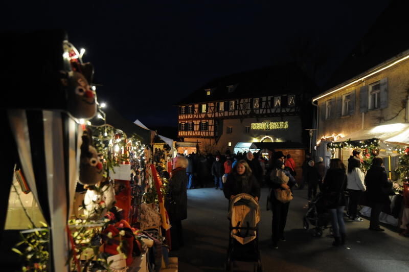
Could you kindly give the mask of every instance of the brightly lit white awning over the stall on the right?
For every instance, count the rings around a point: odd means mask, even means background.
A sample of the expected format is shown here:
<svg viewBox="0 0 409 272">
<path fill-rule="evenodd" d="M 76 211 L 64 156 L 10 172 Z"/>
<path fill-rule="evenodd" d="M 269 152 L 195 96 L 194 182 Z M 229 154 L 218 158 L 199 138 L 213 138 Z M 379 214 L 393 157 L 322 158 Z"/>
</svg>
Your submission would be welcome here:
<svg viewBox="0 0 409 272">
<path fill-rule="evenodd" d="M 389 143 L 407 145 L 409 144 L 409 123 L 395 123 L 360 129 L 334 142 L 340 143 L 348 140 L 360 141 L 374 138 Z"/>
</svg>

